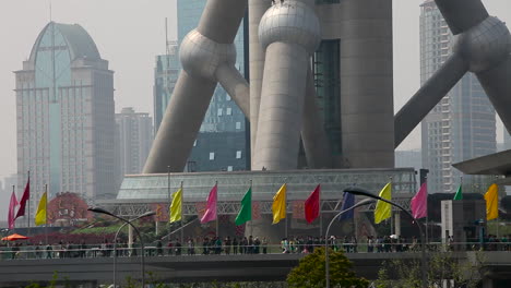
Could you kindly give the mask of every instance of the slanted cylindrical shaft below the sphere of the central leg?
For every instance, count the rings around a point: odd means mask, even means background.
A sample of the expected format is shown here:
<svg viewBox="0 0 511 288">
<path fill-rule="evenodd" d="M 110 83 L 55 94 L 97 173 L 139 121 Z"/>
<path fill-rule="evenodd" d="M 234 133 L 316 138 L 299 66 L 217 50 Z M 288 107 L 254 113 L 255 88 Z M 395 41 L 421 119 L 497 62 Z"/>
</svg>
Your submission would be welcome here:
<svg viewBox="0 0 511 288">
<path fill-rule="evenodd" d="M 297 168 L 307 56 L 304 48 L 287 43 L 266 49 L 253 170 Z"/>
</svg>

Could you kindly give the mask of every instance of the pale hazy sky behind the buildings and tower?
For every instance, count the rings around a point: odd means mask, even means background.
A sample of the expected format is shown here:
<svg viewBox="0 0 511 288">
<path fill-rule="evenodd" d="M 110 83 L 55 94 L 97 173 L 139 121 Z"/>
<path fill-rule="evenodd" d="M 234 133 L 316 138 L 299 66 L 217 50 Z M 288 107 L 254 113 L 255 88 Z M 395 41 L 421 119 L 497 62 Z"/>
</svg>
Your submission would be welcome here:
<svg viewBox="0 0 511 288">
<path fill-rule="evenodd" d="M 189 0 L 192 1 L 192 0 Z M 16 171 L 14 74 L 50 19 L 49 0 L 1 0 L 0 179 Z M 419 87 L 419 4 L 394 0 L 394 103 L 396 111 Z M 511 23 L 510 0 L 484 0 L 488 11 Z M 152 113 L 154 58 L 165 52 L 165 17 L 176 38 L 176 0 L 52 0 L 52 20 L 82 25 L 115 73 L 116 110 Z M 501 139 L 501 130 L 499 130 Z M 419 148 L 415 131 L 399 147 Z"/>
</svg>

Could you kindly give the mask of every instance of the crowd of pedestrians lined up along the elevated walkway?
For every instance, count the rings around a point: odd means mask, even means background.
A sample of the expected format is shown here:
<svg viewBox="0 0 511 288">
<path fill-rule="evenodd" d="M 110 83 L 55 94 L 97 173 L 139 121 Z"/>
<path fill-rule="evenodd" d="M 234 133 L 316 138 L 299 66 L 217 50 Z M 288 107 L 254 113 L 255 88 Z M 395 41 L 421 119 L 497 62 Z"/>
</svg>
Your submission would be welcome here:
<svg viewBox="0 0 511 288">
<path fill-rule="evenodd" d="M 280 243 L 270 243 L 263 237 L 200 237 L 187 238 L 182 241 L 174 238 L 163 243 L 162 240 L 145 245 L 147 255 L 212 255 L 212 254 L 266 254 L 266 253 L 312 253 L 317 247 L 324 247 L 325 239 L 320 237 L 289 237 L 283 238 Z M 420 250 L 420 241 L 417 237 L 403 238 L 400 236 L 368 236 L 360 241 L 355 237 L 328 238 L 328 244 L 334 251 L 346 253 L 391 253 L 391 252 L 417 252 Z M 497 237 L 488 235 L 482 247 L 480 239 L 468 239 L 466 243 L 454 241 L 448 237 L 445 241 L 429 242 L 427 249 L 430 251 L 456 251 L 456 250 L 486 250 L 486 251 L 511 251 L 509 236 Z M 114 243 L 105 240 L 100 244 L 85 244 L 63 242 L 57 244 L 38 243 L 1 243 L 1 259 L 67 259 L 67 257 L 110 257 L 114 255 Z M 135 241 L 131 247 L 119 240 L 116 244 L 117 256 L 136 256 L 140 253 L 140 244 Z"/>
</svg>

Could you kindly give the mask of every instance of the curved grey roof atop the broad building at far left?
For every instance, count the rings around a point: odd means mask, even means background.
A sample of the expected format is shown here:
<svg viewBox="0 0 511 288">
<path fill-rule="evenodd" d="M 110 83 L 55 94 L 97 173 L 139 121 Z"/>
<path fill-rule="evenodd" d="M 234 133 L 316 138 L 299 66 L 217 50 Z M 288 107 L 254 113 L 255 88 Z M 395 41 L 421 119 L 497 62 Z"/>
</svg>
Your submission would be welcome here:
<svg viewBox="0 0 511 288">
<path fill-rule="evenodd" d="M 62 34 L 63 38 L 66 39 L 66 43 L 68 44 L 69 50 L 71 52 L 71 60 L 83 57 L 90 60 L 102 59 L 96 44 L 92 39 L 91 35 L 88 35 L 88 33 L 82 26 L 79 24 L 61 24 L 50 22 L 43 28 L 43 31 L 39 33 L 39 36 L 37 36 L 37 40 L 32 48 L 29 60 L 35 60 L 37 47 L 39 47 L 44 35 L 51 27 L 51 25 L 55 25 L 55 28 L 60 32 L 60 34 Z"/>
</svg>

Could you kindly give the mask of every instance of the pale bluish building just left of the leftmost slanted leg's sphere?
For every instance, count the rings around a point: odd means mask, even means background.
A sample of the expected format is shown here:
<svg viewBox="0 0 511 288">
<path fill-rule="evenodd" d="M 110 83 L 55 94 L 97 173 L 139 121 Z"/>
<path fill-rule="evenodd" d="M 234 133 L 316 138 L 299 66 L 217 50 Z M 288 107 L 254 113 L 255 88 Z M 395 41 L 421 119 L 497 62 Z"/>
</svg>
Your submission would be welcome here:
<svg viewBox="0 0 511 288">
<path fill-rule="evenodd" d="M 167 44 L 167 53 L 156 56 L 156 68 L 154 69 L 154 135 L 158 131 L 174 86 L 176 86 L 179 69 L 178 46 L 177 44 Z"/>
</svg>

